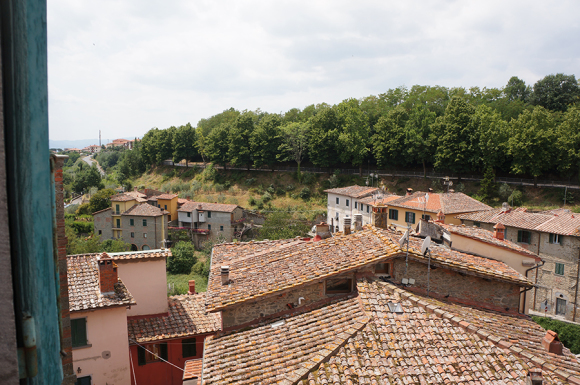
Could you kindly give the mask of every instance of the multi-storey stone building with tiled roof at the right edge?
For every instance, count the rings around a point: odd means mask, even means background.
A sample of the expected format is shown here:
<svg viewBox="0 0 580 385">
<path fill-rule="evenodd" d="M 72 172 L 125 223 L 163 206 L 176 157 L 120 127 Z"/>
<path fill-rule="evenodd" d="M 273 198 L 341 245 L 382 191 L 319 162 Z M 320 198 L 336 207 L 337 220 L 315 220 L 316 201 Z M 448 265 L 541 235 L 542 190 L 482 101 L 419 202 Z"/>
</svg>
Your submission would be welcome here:
<svg viewBox="0 0 580 385">
<path fill-rule="evenodd" d="M 580 216 L 566 211 L 529 212 L 502 208 L 458 217 L 466 226 L 493 231 L 502 224 L 505 239 L 537 254 L 544 264 L 534 271 L 537 287 L 529 296 L 530 308 L 556 318 L 576 321 L 580 253 Z"/>
</svg>

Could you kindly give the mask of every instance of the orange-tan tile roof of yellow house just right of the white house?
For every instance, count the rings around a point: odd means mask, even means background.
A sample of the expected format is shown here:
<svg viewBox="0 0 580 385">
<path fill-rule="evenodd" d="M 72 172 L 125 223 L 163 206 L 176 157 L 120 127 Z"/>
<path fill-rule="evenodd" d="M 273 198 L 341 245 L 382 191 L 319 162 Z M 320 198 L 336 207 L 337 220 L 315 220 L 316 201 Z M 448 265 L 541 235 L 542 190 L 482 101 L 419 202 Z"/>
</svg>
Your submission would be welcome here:
<svg viewBox="0 0 580 385">
<path fill-rule="evenodd" d="M 429 199 L 425 202 L 425 193 L 417 191 L 409 196 L 390 201 L 389 206 L 425 210 L 431 213 L 442 211 L 445 215 L 491 209 L 488 205 L 460 192 L 428 193 L 427 195 Z"/>
</svg>

